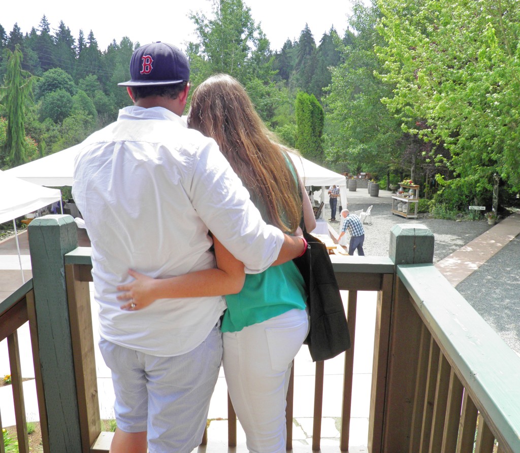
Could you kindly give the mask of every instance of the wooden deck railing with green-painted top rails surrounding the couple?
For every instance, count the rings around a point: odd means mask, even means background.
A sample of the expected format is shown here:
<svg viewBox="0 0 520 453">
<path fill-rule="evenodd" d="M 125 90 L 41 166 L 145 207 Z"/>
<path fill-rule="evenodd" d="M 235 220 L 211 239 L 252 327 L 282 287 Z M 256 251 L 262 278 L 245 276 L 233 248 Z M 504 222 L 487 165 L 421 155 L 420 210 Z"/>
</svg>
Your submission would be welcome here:
<svg viewBox="0 0 520 453">
<path fill-rule="evenodd" d="M 29 228 L 34 298 L 28 282 L 17 298 L 0 304 L 0 331 L 14 335 L 26 317 L 37 328 L 33 352 L 40 352 L 35 371 L 45 453 L 108 452 L 111 434 L 100 427 L 94 362 L 90 249 L 77 248 L 76 227 L 68 216 L 39 218 Z M 349 444 L 358 291 L 377 291 L 368 450 L 520 452 L 520 358 L 432 265 L 433 235 L 427 229 L 396 225 L 390 249 L 389 258 L 332 257 L 340 287 L 348 290 L 352 336 L 344 355 L 339 450 L 347 451 Z M 19 321 L 13 321 L 16 316 Z M 12 328 L 4 329 L 4 322 Z M 16 342 L 16 335 L 12 338 Z M 11 361 L 16 363 L 16 353 Z M 318 450 L 323 363 L 316 364 L 315 379 L 311 448 Z M 287 418 L 291 449 L 291 388 Z M 18 424 L 20 438 L 24 422 L 17 416 Z M 204 442 L 211 451 L 211 438 Z M 228 446 L 236 443 L 230 407 Z"/>
</svg>

